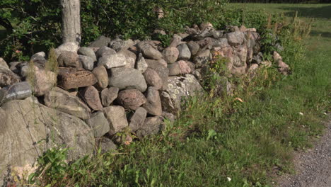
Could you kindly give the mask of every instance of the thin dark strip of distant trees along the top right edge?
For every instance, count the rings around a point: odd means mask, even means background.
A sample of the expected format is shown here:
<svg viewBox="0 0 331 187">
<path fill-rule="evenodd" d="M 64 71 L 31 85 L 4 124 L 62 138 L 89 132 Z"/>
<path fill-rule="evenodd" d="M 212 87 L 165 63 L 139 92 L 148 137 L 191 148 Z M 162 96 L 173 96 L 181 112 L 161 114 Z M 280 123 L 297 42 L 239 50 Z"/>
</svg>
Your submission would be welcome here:
<svg viewBox="0 0 331 187">
<path fill-rule="evenodd" d="M 331 3 L 331 0 L 230 0 L 231 3 L 263 3 L 263 4 L 316 4 L 316 3 Z"/>
</svg>

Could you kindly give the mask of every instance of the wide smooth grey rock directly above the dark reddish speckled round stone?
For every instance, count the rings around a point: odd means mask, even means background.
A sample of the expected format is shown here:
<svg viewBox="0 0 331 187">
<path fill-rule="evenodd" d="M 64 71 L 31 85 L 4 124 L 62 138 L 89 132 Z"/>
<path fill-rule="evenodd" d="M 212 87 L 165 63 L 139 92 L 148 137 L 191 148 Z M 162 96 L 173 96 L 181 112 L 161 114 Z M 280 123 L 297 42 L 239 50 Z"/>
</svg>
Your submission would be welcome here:
<svg viewBox="0 0 331 187">
<path fill-rule="evenodd" d="M 109 85 L 122 89 L 137 89 L 146 91 L 147 84 L 144 76 L 137 69 L 118 67 L 110 69 Z"/>
</svg>

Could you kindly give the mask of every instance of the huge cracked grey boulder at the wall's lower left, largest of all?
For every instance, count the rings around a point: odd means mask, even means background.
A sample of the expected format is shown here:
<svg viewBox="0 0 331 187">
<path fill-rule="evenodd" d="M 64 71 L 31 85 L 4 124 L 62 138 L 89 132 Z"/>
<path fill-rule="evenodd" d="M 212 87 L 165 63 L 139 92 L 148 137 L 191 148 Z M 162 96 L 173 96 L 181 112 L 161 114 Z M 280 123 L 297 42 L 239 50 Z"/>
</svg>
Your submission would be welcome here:
<svg viewBox="0 0 331 187">
<path fill-rule="evenodd" d="M 93 153 L 93 131 L 75 116 L 32 98 L 9 101 L 1 108 L 0 186 L 8 170 L 18 175 L 33 172 L 37 158 L 52 147 L 69 148 L 69 160 Z"/>
</svg>

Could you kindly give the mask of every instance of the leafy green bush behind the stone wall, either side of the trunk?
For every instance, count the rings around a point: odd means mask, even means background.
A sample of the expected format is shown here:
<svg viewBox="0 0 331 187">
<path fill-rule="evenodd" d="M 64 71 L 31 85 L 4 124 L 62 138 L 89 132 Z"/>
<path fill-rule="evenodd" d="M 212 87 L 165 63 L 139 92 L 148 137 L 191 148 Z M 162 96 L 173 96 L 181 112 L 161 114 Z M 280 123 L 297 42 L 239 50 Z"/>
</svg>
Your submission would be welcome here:
<svg viewBox="0 0 331 187">
<path fill-rule="evenodd" d="M 155 28 L 173 33 L 193 23 L 223 20 L 220 12 L 226 2 L 81 0 L 82 45 L 100 35 L 144 39 Z M 163 8 L 165 18 L 157 18 L 156 8 Z M 4 0 L 0 2 L 0 18 L 9 24 L 6 38 L 0 40 L 0 56 L 6 60 L 28 60 L 33 52 L 61 42 L 61 7 L 57 0 Z"/>
</svg>

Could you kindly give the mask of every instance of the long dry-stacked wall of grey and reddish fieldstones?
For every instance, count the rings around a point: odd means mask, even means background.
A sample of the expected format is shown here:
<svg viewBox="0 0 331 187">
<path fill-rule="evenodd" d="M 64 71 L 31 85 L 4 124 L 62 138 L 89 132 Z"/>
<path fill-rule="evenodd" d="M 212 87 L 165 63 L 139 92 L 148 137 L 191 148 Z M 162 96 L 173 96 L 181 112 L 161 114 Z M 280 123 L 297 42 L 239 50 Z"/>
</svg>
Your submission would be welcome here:
<svg viewBox="0 0 331 187">
<path fill-rule="evenodd" d="M 64 43 L 55 53 L 57 74 L 47 70 L 45 52 L 30 62 L 0 59 L 1 173 L 8 165 L 33 168 L 50 147 L 69 146 L 75 159 L 92 153 L 95 143 L 105 152 L 115 149 L 112 140 L 131 142 L 131 133 L 160 132 L 163 120 L 180 112 L 182 97 L 204 92 L 203 69 L 215 57 L 227 58 L 236 75 L 271 63 L 262 60 L 255 28 L 215 30 L 210 23 L 174 35 L 165 48 L 155 40 L 101 36 L 88 47 Z"/>
</svg>

